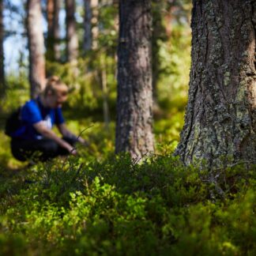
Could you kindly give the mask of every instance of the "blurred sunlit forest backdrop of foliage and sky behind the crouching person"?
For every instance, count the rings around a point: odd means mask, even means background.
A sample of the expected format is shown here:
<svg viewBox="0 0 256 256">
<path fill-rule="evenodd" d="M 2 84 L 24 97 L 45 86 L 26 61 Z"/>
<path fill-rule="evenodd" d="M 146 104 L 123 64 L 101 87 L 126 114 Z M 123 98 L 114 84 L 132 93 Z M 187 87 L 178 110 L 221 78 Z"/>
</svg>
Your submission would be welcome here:
<svg viewBox="0 0 256 256">
<path fill-rule="evenodd" d="M 68 5 L 70 5 L 67 7 Z M 183 126 L 190 72 L 188 0 L 152 2 L 152 70 L 156 152 L 170 152 Z M 85 10 L 88 10 L 87 13 Z M 46 76 L 70 87 L 64 115 L 77 134 L 88 126 L 86 157 L 114 152 L 119 8 L 115 0 L 41 1 Z M 10 111 L 30 97 L 28 5 L 2 1 L 1 128 Z M 39 25 L 41 24 L 41 28 Z M 1 134 L 0 159 L 12 166 L 9 138 Z M 86 150 L 85 150 L 86 151 Z"/>
</svg>

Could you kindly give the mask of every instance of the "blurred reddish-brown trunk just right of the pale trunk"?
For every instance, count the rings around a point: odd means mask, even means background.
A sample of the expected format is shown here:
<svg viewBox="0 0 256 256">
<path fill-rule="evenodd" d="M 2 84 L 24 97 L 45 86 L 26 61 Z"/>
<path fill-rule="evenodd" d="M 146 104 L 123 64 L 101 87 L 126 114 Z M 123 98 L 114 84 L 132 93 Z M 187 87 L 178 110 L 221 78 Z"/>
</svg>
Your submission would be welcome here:
<svg viewBox="0 0 256 256">
<path fill-rule="evenodd" d="M 47 0 L 47 59 L 59 61 L 61 54 L 59 48 L 59 0 Z"/>
</svg>

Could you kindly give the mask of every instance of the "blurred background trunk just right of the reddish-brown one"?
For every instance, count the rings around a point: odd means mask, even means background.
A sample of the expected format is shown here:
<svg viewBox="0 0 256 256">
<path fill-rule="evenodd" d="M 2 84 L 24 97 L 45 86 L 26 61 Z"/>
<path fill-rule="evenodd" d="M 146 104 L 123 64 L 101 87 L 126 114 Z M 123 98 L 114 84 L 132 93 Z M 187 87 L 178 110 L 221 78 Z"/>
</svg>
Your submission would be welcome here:
<svg viewBox="0 0 256 256">
<path fill-rule="evenodd" d="M 75 0 L 65 0 L 66 2 L 66 57 L 68 62 L 77 62 L 78 38 L 76 29 Z"/>
</svg>

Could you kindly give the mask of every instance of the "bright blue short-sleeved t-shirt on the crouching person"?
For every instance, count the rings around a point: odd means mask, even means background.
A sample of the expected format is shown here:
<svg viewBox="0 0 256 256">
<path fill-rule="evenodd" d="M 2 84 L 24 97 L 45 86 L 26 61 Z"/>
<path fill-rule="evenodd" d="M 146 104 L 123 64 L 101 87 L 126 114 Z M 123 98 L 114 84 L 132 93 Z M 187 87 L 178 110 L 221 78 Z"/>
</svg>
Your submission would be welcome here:
<svg viewBox="0 0 256 256">
<path fill-rule="evenodd" d="M 24 140 L 40 140 L 43 136 L 33 127 L 36 122 L 43 121 L 51 129 L 55 124 L 62 124 L 64 119 L 61 107 L 44 107 L 40 98 L 37 98 L 36 100 L 29 100 L 21 108 L 21 121 L 23 126 L 17 130 L 13 137 Z"/>
</svg>

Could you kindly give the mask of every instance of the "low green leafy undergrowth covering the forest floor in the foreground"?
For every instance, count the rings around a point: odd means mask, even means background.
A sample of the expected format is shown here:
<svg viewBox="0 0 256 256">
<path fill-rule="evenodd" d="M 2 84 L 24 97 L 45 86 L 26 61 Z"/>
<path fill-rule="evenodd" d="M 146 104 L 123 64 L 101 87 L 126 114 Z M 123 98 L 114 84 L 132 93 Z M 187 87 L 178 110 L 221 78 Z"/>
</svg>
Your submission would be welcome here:
<svg viewBox="0 0 256 256">
<path fill-rule="evenodd" d="M 256 254 L 255 167 L 123 155 L 0 175 L 2 255 Z"/>
</svg>

